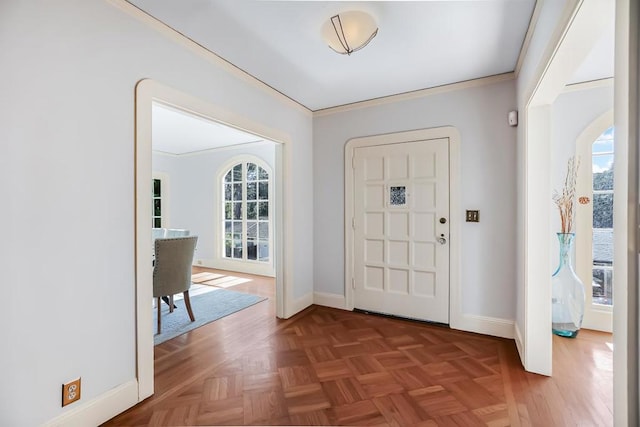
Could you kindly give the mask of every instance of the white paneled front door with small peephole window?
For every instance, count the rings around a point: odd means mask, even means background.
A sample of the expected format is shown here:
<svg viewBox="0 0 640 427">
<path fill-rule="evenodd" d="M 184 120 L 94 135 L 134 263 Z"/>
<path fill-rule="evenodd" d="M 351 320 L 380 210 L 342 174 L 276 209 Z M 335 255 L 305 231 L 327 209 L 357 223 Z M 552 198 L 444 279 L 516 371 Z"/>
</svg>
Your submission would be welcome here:
<svg viewBox="0 0 640 427">
<path fill-rule="evenodd" d="M 449 140 L 354 150 L 354 306 L 449 323 Z"/>
</svg>

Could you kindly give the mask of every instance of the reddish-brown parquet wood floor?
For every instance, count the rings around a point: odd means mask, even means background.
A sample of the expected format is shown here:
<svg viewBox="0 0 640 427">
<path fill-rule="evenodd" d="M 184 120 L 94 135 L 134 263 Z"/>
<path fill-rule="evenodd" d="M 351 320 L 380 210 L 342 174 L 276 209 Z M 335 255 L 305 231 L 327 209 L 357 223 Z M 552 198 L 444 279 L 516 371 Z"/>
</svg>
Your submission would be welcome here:
<svg viewBox="0 0 640 427">
<path fill-rule="evenodd" d="M 270 299 L 157 346 L 155 395 L 105 426 L 613 424 L 611 334 L 554 337 L 548 378 L 511 340 L 320 306 L 278 320 L 273 280 L 195 271 Z"/>
</svg>

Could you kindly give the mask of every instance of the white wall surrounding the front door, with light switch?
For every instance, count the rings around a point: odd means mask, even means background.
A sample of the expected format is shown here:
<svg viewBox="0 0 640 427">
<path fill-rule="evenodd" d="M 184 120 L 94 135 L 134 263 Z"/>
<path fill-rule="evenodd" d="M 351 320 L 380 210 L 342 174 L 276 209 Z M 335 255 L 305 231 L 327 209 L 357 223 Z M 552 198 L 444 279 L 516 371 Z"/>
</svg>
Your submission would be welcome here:
<svg viewBox="0 0 640 427">
<path fill-rule="evenodd" d="M 315 291 L 344 295 L 344 146 L 355 137 L 454 126 L 461 135 L 461 211 L 479 209 L 478 224 L 462 223 L 462 309 L 515 317 L 515 81 L 314 118 Z"/>
</svg>

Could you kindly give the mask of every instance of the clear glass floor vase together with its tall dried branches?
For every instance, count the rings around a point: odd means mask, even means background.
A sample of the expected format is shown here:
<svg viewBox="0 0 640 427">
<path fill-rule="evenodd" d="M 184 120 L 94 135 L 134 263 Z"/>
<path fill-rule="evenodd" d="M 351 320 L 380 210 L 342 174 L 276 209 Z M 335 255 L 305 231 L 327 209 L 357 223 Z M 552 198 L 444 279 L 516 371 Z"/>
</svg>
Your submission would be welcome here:
<svg viewBox="0 0 640 427">
<path fill-rule="evenodd" d="M 584 285 L 576 275 L 572 263 L 576 180 L 580 159 L 570 157 L 562 192 L 554 191 L 553 201 L 560 212 L 560 256 L 558 269 L 551 278 L 551 330 L 554 334 L 575 338 L 584 316 Z"/>
</svg>

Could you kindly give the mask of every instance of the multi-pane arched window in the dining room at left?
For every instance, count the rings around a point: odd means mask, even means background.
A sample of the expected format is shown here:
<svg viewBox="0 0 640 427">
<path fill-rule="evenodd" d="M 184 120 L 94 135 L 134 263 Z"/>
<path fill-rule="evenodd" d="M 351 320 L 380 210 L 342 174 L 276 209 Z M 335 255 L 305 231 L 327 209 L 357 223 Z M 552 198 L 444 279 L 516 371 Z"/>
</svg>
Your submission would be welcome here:
<svg viewBox="0 0 640 427">
<path fill-rule="evenodd" d="M 269 172 L 256 162 L 231 167 L 222 182 L 223 257 L 269 262 L 271 253 Z"/>
</svg>

